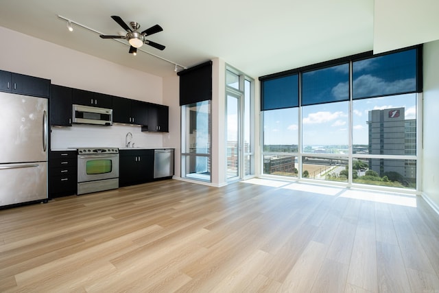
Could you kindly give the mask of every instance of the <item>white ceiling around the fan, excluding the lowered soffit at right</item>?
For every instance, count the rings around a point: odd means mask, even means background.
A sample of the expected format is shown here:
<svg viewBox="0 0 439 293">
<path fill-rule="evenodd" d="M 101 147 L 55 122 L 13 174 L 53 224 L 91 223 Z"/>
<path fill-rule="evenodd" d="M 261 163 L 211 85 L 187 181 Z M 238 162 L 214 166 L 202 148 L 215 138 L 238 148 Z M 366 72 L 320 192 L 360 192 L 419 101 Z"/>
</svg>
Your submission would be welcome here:
<svg viewBox="0 0 439 293">
<path fill-rule="evenodd" d="M 68 32 L 58 15 L 111 35 L 123 32 L 111 15 L 140 30 L 159 24 L 163 32 L 148 39 L 166 49 L 141 49 L 171 62 L 132 56 L 77 25 Z M 175 75 L 172 63 L 221 58 L 257 78 L 372 50 L 374 0 L 1 0 L 0 26 L 158 76 Z"/>
</svg>

